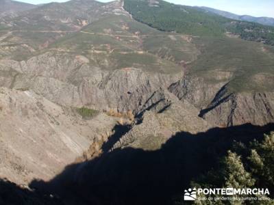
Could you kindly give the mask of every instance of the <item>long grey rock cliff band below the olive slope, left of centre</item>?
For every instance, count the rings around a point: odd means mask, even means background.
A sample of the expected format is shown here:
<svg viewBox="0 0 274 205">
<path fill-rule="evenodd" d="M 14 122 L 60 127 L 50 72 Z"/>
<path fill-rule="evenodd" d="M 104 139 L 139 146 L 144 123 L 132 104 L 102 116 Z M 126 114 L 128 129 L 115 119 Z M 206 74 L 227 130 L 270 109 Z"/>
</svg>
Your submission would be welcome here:
<svg viewBox="0 0 274 205">
<path fill-rule="evenodd" d="M 121 112 L 138 111 L 143 96 L 182 77 L 137 68 L 101 70 L 88 64 L 84 56 L 60 53 L 45 53 L 21 62 L 1 60 L 0 71 L 2 86 L 34 90 L 60 105 Z"/>
</svg>

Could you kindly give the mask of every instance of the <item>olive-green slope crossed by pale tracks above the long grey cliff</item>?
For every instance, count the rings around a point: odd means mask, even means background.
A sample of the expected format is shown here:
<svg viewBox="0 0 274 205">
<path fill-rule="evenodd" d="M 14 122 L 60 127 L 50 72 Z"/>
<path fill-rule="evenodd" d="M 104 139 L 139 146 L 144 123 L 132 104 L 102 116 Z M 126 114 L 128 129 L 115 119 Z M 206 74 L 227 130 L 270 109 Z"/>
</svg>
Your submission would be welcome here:
<svg viewBox="0 0 274 205">
<path fill-rule="evenodd" d="M 77 33 L 60 38 L 49 50 L 81 53 L 100 68 L 142 68 L 174 73 L 199 51 L 184 35 L 153 29 L 129 15 L 101 18 Z"/>
</svg>

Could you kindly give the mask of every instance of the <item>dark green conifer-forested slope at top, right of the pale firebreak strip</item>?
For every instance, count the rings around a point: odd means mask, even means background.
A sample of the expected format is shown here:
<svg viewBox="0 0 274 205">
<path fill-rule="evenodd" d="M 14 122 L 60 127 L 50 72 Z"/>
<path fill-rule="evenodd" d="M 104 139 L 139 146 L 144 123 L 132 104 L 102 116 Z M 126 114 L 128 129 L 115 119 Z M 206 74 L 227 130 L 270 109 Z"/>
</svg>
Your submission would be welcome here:
<svg viewBox="0 0 274 205">
<path fill-rule="evenodd" d="M 227 18 L 166 1 L 125 0 L 124 8 L 136 20 L 162 31 L 197 36 L 221 36 L 225 29 L 220 25 L 229 23 Z"/>
</svg>

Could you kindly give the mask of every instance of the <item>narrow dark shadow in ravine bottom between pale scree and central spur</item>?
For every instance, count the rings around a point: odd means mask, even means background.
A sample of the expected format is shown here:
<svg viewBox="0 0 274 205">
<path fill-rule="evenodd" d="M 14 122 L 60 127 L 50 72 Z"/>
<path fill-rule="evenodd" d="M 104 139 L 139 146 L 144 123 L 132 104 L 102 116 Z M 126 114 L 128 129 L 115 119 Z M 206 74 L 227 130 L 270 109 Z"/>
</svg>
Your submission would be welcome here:
<svg viewBox="0 0 274 205">
<path fill-rule="evenodd" d="M 131 125 L 116 124 L 116 126 L 114 126 L 114 135 L 110 136 L 108 138 L 108 141 L 103 143 L 103 153 L 108 152 L 112 148 L 112 146 L 114 146 L 114 144 L 119 141 L 120 137 L 125 135 L 125 133 L 130 130 L 130 128 L 132 128 Z"/>
</svg>

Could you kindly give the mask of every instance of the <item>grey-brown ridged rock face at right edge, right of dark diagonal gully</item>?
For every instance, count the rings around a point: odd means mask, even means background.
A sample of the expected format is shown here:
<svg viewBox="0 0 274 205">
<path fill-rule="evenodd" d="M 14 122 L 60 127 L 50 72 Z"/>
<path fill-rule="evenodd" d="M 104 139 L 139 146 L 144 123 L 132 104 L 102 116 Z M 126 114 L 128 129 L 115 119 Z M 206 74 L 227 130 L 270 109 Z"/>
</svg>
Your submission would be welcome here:
<svg viewBox="0 0 274 205">
<path fill-rule="evenodd" d="M 273 100 L 273 92 L 227 94 L 224 90 L 200 115 L 219 126 L 264 125 L 274 120 Z"/>
</svg>

